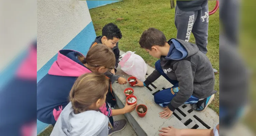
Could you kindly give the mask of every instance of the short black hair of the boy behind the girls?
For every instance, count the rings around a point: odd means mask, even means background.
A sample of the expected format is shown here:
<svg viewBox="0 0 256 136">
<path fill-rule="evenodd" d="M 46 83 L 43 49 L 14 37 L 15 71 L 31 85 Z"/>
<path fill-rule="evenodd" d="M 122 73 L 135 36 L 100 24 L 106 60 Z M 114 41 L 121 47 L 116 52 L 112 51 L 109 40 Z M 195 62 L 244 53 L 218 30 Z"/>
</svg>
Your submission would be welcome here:
<svg viewBox="0 0 256 136">
<path fill-rule="evenodd" d="M 108 23 L 102 29 L 102 36 L 106 36 L 108 40 L 113 40 L 114 37 L 121 39 L 122 33 L 114 23 Z"/>
</svg>

